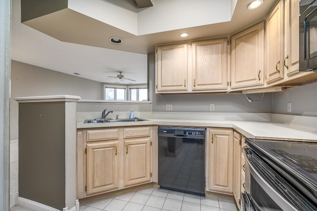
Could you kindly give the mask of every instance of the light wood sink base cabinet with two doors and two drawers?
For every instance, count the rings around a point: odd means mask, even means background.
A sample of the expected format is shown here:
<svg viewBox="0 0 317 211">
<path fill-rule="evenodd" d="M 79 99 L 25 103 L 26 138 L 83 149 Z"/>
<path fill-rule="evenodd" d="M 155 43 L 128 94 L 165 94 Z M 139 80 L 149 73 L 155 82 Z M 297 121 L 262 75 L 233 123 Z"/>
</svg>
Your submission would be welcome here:
<svg viewBox="0 0 317 211">
<path fill-rule="evenodd" d="M 152 182 L 152 127 L 77 130 L 77 197 Z"/>
</svg>

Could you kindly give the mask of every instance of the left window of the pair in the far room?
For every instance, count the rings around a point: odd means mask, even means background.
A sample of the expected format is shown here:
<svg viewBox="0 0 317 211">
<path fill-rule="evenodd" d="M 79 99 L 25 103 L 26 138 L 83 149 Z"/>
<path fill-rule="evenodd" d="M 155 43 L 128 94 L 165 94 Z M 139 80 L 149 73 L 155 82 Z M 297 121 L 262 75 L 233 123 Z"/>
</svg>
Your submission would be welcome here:
<svg viewBox="0 0 317 211">
<path fill-rule="evenodd" d="M 127 99 L 127 86 L 104 85 L 105 100 L 125 101 Z"/>
</svg>

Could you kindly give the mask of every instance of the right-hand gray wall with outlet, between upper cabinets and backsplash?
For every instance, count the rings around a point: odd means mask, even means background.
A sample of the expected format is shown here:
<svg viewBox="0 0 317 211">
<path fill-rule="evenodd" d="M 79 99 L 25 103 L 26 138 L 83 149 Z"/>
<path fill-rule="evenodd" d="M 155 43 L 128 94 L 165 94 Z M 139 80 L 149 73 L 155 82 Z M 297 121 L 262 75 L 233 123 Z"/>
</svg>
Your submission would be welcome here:
<svg viewBox="0 0 317 211">
<path fill-rule="evenodd" d="M 272 113 L 317 117 L 317 83 L 297 86 L 273 93 Z M 287 103 L 292 112 L 287 112 Z"/>
</svg>

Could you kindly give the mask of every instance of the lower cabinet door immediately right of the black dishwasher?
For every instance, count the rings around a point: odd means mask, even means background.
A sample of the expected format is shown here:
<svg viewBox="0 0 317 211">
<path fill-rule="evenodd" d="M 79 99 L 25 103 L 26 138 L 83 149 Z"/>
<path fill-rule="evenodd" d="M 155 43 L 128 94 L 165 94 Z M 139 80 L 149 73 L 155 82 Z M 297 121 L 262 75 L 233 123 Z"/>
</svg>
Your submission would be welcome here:
<svg viewBox="0 0 317 211">
<path fill-rule="evenodd" d="M 210 130 L 209 190 L 232 193 L 232 130 Z"/>
</svg>

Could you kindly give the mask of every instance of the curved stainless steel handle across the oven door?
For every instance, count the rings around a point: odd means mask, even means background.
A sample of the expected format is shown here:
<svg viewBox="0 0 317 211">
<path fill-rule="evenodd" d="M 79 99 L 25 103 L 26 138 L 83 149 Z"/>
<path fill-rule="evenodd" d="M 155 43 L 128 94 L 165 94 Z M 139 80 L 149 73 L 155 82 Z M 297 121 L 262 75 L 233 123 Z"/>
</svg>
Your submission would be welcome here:
<svg viewBox="0 0 317 211">
<path fill-rule="evenodd" d="M 250 155 L 250 154 L 249 154 Z M 285 211 L 296 211 L 296 208 L 290 204 L 287 200 L 283 198 L 267 181 L 263 176 L 259 173 L 257 168 L 253 165 L 252 161 L 252 156 L 248 156 L 247 151 L 244 150 L 244 156 L 245 156 L 245 161 L 246 161 L 246 169 L 248 168 L 250 173 L 252 174 L 253 178 L 258 182 L 258 184 L 263 188 L 263 190 L 266 192 L 268 196 L 270 196 L 276 204 L 283 210 Z M 246 171 L 247 172 L 247 171 Z M 251 199 L 250 201 L 252 204 L 254 204 L 255 207 L 256 203 L 253 202 L 252 196 L 250 196 Z"/>
</svg>

